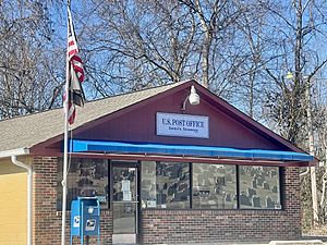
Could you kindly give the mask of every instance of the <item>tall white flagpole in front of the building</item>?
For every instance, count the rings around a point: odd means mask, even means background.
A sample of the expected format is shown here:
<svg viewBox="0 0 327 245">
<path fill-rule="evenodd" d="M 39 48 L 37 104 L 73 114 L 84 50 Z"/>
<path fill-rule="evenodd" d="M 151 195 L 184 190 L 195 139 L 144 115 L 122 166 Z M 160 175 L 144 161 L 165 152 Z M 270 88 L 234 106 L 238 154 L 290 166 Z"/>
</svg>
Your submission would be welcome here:
<svg viewBox="0 0 327 245">
<path fill-rule="evenodd" d="M 70 20 L 69 8 L 70 0 L 68 0 L 68 24 L 66 24 L 66 37 L 70 35 Z M 68 44 L 68 42 L 66 42 Z M 68 44 L 69 46 L 69 44 Z M 62 217 L 61 217 L 61 245 L 65 244 L 65 212 L 66 212 L 66 176 L 68 176 L 68 140 L 69 140 L 69 48 L 66 48 L 66 64 L 65 64 L 65 86 L 64 86 L 64 137 L 63 137 L 63 171 L 62 171 Z"/>
</svg>

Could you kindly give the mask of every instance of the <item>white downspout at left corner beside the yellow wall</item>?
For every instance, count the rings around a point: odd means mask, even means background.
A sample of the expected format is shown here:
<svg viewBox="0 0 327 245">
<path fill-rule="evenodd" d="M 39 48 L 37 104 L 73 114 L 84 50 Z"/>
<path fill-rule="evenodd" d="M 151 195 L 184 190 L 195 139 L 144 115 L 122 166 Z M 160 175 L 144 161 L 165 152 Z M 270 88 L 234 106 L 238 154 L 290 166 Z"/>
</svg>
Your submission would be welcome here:
<svg viewBox="0 0 327 245">
<path fill-rule="evenodd" d="M 17 160 L 16 155 L 11 156 L 13 164 L 27 170 L 27 245 L 33 245 L 33 171 L 32 167 Z"/>
</svg>

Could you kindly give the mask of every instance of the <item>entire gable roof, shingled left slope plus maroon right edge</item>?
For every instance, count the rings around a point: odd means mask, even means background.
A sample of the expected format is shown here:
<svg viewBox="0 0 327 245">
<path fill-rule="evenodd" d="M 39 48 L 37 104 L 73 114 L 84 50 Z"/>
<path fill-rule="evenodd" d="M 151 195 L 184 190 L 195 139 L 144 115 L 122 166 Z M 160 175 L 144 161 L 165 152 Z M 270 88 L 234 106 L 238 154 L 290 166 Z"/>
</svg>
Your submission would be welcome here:
<svg viewBox="0 0 327 245">
<path fill-rule="evenodd" d="M 256 134 L 281 146 L 283 150 L 304 152 L 302 149 L 232 107 L 223 99 L 217 97 L 195 81 L 185 81 L 86 102 L 84 108 L 76 108 L 77 117 L 72 130 L 75 132 L 87 130 L 105 121 L 108 115 L 124 113 L 129 110 L 133 110 L 138 105 L 145 105 L 146 101 L 152 102 L 160 97 L 165 98 L 168 95 L 173 95 L 173 93 L 179 90 L 190 89 L 191 85 L 196 87 L 202 100 L 205 100 L 214 108 L 232 117 Z M 27 155 L 33 147 L 62 140 L 64 131 L 63 119 L 63 110 L 59 108 L 0 121 L 0 158 L 11 155 Z M 317 160 L 315 159 L 314 161 Z"/>
</svg>

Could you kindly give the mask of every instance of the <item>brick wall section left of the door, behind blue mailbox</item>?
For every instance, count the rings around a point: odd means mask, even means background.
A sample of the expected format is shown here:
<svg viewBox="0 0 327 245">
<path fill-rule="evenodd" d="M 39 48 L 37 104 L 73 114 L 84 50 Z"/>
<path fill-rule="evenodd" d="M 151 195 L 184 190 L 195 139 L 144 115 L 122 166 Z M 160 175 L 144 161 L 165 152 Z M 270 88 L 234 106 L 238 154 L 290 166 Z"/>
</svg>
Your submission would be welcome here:
<svg viewBox="0 0 327 245">
<path fill-rule="evenodd" d="M 34 225 L 33 237 L 35 245 L 61 244 L 61 211 L 57 211 L 57 158 L 36 157 L 33 164 L 34 171 Z M 101 211 L 100 233 L 101 244 L 111 243 L 110 210 Z M 70 211 L 66 212 L 65 241 L 70 244 Z M 81 244 L 74 238 L 74 244 Z M 90 240 L 97 244 L 96 240 Z"/>
</svg>

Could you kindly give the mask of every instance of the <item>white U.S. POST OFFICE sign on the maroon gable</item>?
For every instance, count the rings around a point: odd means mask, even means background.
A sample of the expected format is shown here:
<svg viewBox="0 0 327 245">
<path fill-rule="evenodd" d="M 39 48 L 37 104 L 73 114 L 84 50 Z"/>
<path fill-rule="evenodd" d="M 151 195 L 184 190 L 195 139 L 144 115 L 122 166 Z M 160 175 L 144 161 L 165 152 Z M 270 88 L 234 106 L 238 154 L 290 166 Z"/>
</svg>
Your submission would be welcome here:
<svg viewBox="0 0 327 245">
<path fill-rule="evenodd" d="M 209 138 L 209 118 L 157 112 L 157 135 Z"/>
</svg>

